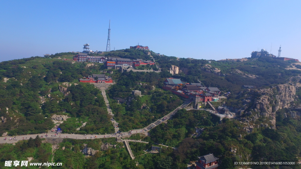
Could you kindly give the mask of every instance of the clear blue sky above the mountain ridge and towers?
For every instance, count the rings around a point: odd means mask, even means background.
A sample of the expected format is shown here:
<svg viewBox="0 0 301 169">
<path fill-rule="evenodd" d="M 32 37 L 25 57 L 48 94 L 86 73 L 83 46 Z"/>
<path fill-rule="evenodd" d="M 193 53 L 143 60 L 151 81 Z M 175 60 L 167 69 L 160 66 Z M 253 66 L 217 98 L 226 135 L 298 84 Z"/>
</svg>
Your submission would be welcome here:
<svg viewBox="0 0 301 169">
<path fill-rule="evenodd" d="M 175 57 L 301 60 L 301 1 L 1 1 L 0 61 L 148 46 Z"/>
</svg>

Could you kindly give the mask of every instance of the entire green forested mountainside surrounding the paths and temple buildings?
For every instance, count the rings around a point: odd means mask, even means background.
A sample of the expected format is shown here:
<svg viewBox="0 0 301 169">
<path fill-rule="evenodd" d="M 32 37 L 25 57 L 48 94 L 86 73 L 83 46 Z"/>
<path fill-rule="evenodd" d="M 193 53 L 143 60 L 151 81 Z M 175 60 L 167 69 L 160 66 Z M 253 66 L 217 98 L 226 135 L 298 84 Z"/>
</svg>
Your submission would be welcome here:
<svg viewBox="0 0 301 169">
<path fill-rule="evenodd" d="M 224 106 L 254 112 L 253 100 L 259 98 L 257 89 L 270 88 L 284 84 L 288 78 L 300 75 L 300 70 L 287 70 L 294 61 L 274 60 L 262 57 L 247 61 L 197 60 L 157 56 L 152 51 L 150 57 L 139 50 L 118 50 L 100 54 L 105 57 L 122 57 L 130 59 L 154 59 L 160 66 L 156 72 L 119 72 L 113 70 L 108 74 L 103 63 L 86 66 L 87 63 L 73 63 L 57 59 L 68 58 L 72 53 L 54 54 L 51 57 L 31 57 L 0 63 L 0 133 L 8 135 L 38 134 L 47 132 L 54 126 L 51 116 L 67 115 L 67 121 L 60 124 L 65 133 L 95 134 L 114 133 L 101 91 L 92 84 L 81 83 L 79 78 L 92 74 L 106 74 L 116 84 L 107 90 L 110 107 L 119 122 L 121 131 L 144 128 L 151 122 L 163 117 L 183 103 L 183 99 L 162 89 L 166 77 L 181 78 L 182 81 L 217 87 L 222 93 L 230 91 Z M 171 75 L 172 65 L 182 72 Z M 209 66 L 208 66 L 209 65 Z M 297 79 L 297 78 L 296 78 Z M 296 80 L 294 82 L 300 82 Z M 142 85 L 141 85 L 142 84 Z M 255 90 L 244 90 L 242 85 L 253 85 Z M 67 88 L 63 91 L 63 88 Z M 132 96 L 132 90 L 141 91 L 142 96 Z M 135 160 L 131 160 L 123 144 L 107 140 L 117 147 L 99 151 L 95 156 L 85 157 L 80 150 L 88 144 L 100 150 L 105 140 L 64 140 L 54 153 L 54 161 L 63 161 L 64 168 L 187 168 L 189 161 L 197 156 L 213 153 L 220 158 L 219 168 L 239 168 L 234 161 L 294 161 L 300 159 L 301 121 L 298 105 L 301 92 L 296 88 L 296 98 L 292 104 L 295 109 L 281 109 L 276 112 L 276 128 L 271 129 L 257 124 L 268 123 L 269 118 L 259 117 L 253 132 L 247 133 L 240 118 L 249 118 L 246 113 L 237 114 L 237 119 L 223 119 L 205 110 L 178 111 L 172 119 L 149 131 L 149 136 L 133 135 L 131 139 L 144 140 L 145 143 L 131 143 Z M 119 100 L 127 100 L 118 103 Z M 130 99 L 130 101 L 129 101 Z M 245 104 L 245 100 L 250 100 Z M 223 104 L 222 102 L 218 105 Z M 270 106 L 273 106 L 272 102 Z M 291 112 L 297 112 L 293 115 Z M 3 119 L 3 120 L 2 120 Z M 85 127 L 79 128 L 82 123 Z M 248 124 L 249 125 L 249 124 Z M 200 134 L 196 128 L 202 129 Z M 1 162 L 8 158 L 23 159 L 28 155 L 37 160 L 49 160 L 51 145 L 32 141 L 21 141 L 15 146 L 1 146 L 4 154 Z M 176 147 L 163 148 L 157 154 L 144 154 L 153 143 Z M 120 147 L 119 147 L 120 146 Z M 62 147 L 65 147 L 64 150 Z M 19 150 L 19 151 L 18 151 Z M 22 151 L 21 151 L 22 150 Z M 234 153 L 235 150 L 235 153 Z M 42 153 L 46 155 L 38 157 Z M 22 153 L 24 155 L 22 155 Z M 139 163 L 136 166 L 136 162 Z M 262 166 L 249 166 L 264 168 Z M 271 166 L 265 166 L 265 168 Z M 285 166 L 300 168 L 299 165 Z M 282 167 L 282 168 L 285 168 Z M 275 165 L 275 168 L 279 168 Z"/>
</svg>

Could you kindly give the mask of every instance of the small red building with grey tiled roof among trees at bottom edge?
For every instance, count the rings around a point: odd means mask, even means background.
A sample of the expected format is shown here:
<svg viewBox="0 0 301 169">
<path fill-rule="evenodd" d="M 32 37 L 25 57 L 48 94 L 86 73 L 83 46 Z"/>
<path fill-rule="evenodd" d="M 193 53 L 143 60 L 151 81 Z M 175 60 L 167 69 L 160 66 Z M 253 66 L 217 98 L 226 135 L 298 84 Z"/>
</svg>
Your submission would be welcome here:
<svg viewBox="0 0 301 169">
<path fill-rule="evenodd" d="M 200 160 L 195 162 L 197 165 L 196 169 L 216 169 L 219 164 L 217 164 L 217 160 L 213 154 L 207 154 L 204 156 L 198 157 Z"/>
</svg>

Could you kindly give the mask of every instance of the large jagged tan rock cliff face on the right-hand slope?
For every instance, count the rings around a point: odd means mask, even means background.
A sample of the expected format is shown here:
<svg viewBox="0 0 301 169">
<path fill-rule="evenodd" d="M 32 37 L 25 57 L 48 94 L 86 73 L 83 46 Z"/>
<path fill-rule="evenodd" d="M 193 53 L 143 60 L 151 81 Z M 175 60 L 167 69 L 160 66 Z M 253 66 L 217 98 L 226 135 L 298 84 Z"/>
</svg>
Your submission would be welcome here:
<svg viewBox="0 0 301 169">
<path fill-rule="evenodd" d="M 276 111 L 279 109 L 290 108 L 290 103 L 294 101 L 296 87 L 290 84 L 280 84 L 270 89 L 262 89 L 259 99 L 254 100 L 254 110 L 261 116 L 268 117 L 275 129 Z"/>
</svg>

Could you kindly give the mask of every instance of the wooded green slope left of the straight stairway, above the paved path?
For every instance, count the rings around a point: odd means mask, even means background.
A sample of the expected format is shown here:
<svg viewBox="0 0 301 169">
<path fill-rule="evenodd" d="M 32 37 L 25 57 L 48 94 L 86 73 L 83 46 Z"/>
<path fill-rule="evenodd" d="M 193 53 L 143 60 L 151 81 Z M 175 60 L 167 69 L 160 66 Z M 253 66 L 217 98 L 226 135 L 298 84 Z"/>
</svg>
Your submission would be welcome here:
<svg viewBox="0 0 301 169">
<path fill-rule="evenodd" d="M 64 132 L 75 132 L 81 124 L 74 121 L 85 122 L 92 117 L 94 121 L 89 121 L 81 132 L 113 131 L 101 92 L 92 84 L 73 83 L 92 73 L 85 64 L 32 57 L 2 62 L 0 69 L 0 116 L 7 119 L 0 124 L 0 133 L 8 131 L 15 135 L 48 131 L 54 126 L 51 121 L 53 114 L 72 117 L 62 124 Z M 99 72 L 98 69 L 95 71 Z M 9 79 L 4 82 L 4 78 Z M 59 91 L 62 82 L 73 83 L 68 88 L 68 96 Z"/>
</svg>

